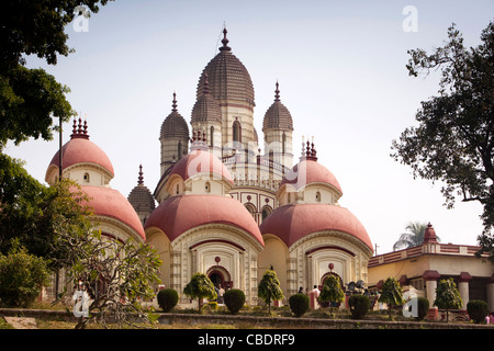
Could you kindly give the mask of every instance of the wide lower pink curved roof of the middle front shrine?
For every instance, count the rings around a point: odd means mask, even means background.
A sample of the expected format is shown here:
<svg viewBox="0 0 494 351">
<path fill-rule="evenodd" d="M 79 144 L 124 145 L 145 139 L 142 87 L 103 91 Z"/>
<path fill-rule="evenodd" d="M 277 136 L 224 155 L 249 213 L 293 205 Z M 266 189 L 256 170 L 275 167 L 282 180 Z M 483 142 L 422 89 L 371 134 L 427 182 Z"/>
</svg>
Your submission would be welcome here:
<svg viewBox="0 0 494 351">
<path fill-rule="evenodd" d="M 157 227 L 170 241 L 184 231 L 206 225 L 225 224 L 250 234 L 265 246 L 259 227 L 250 213 L 235 199 L 221 195 L 179 195 L 169 197 L 156 208 L 144 228 Z"/>
</svg>

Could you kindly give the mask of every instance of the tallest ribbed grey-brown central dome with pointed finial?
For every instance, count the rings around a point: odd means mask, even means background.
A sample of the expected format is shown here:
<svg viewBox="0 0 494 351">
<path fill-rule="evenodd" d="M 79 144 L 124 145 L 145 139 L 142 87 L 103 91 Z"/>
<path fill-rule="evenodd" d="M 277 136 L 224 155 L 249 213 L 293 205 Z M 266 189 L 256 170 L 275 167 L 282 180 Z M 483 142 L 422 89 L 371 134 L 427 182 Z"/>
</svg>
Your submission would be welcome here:
<svg viewBox="0 0 494 351">
<path fill-rule="evenodd" d="M 227 46 L 226 29 L 223 31 L 223 46 L 220 53 L 206 65 L 202 71 L 198 83 L 198 99 L 203 93 L 204 81 L 210 83 L 210 91 L 214 99 L 236 100 L 255 106 L 254 102 L 254 84 L 250 75 L 244 64 L 232 54 L 232 48 Z"/>
</svg>

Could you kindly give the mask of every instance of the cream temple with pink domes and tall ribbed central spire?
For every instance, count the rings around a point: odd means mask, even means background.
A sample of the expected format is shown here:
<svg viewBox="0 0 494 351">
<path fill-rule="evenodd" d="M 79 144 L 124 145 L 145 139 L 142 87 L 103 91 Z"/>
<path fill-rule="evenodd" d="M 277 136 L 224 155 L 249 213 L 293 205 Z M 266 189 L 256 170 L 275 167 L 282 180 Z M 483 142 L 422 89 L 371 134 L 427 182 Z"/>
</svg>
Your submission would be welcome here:
<svg viewBox="0 0 494 351">
<path fill-rule="evenodd" d="M 162 285 L 177 290 L 182 305 L 190 303 L 182 292 L 195 272 L 205 273 L 215 285 L 244 291 L 250 305 L 259 303 L 257 286 L 268 269 L 280 280 L 285 295 L 281 303 L 300 287 L 321 286 L 330 274 L 345 290 L 356 282 L 379 287 L 388 278 L 388 261 L 372 257 L 364 226 L 339 205 L 341 186 L 317 161 L 314 144 L 303 140 L 302 150 L 294 151 L 293 120 L 281 102 L 278 82 L 259 140 L 250 75 L 232 53 L 226 29 L 223 34 L 217 55 L 199 77 L 190 126 L 172 94 L 171 112 L 159 134 L 161 176 L 154 192 L 144 185 L 142 166 L 127 199 L 113 190 L 112 163 L 80 120 L 74 121 L 61 150 L 63 176 L 76 180 L 92 199 L 94 227 L 157 249 Z M 56 181 L 59 167 L 57 152 L 46 171 L 48 183 Z M 382 276 L 370 278 L 373 268 Z M 493 272 L 486 271 L 485 299 L 493 310 Z M 420 282 L 429 281 L 427 274 Z M 425 292 L 426 284 L 414 287 Z"/>
</svg>

